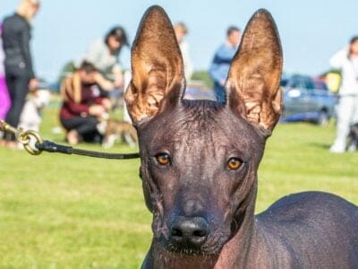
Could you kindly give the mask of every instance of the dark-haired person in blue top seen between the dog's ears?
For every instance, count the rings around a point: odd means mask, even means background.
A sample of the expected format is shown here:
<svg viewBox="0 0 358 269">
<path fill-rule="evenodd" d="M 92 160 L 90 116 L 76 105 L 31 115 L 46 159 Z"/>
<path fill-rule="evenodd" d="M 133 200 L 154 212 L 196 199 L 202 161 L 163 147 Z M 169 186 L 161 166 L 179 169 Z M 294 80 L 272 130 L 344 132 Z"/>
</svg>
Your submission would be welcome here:
<svg viewBox="0 0 358 269">
<path fill-rule="evenodd" d="M 226 42 L 217 48 L 211 65 L 209 75 L 214 82 L 214 91 L 217 101 L 225 102 L 225 83 L 229 72 L 231 61 L 240 44 L 241 30 L 235 26 L 230 26 L 226 30 Z"/>
</svg>

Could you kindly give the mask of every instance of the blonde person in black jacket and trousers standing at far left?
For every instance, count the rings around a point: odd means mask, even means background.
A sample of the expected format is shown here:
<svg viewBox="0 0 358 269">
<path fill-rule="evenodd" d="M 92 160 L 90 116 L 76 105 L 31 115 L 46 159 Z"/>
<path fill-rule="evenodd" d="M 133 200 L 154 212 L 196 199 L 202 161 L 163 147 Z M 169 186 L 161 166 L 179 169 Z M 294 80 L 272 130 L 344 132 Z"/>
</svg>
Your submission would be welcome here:
<svg viewBox="0 0 358 269">
<path fill-rule="evenodd" d="M 12 102 L 6 122 L 12 126 L 19 124 L 26 94 L 38 86 L 30 54 L 30 21 L 38 7 L 38 0 L 21 0 L 17 12 L 3 22 L 5 80 Z M 4 139 L 7 146 L 16 146 L 13 134 L 5 134 Z"/>
</svg>

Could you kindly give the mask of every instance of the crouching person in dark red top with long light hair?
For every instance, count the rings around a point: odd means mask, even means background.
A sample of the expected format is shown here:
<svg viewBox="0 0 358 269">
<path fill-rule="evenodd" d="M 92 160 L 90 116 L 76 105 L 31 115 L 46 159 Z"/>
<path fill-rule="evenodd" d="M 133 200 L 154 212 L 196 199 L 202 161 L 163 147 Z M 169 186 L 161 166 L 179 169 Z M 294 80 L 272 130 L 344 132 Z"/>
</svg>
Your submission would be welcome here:
<svg viewBox="0 0 358 269">
<path fill-rule="evenodd" d="M 66 139 L 70 144 L 81 140 L 100 142 L 98 124 L 107 117 L 110 101 L 99 94 L 99 88 L 106 80 L 97 68 L 83 62 L 73 74 L 64 79 L 61 95 L 64 100 L 60 110 L 60 121 L 67 131 Z"/>
</svg>

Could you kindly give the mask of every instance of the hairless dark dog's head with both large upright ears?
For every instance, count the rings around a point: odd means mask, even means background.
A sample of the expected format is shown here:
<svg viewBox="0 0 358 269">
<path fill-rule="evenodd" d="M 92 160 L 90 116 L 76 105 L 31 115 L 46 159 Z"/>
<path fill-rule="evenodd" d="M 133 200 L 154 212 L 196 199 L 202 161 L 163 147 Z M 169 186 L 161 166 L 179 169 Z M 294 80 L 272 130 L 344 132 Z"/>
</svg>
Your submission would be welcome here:
<svg viewBox="0 0 358 269">
<path fill-rule="evenodd" d="M 125 100 L 141 149 L 153 232 L 171 251 L 216 254 L 256 197 L 265 141 L 281 114 L 275 22 L 255 13 L 227 81 L 226 102 L 183 100 L 183 59 L 171 22 L 149 8 L 132 47 Z"/>
</svg>

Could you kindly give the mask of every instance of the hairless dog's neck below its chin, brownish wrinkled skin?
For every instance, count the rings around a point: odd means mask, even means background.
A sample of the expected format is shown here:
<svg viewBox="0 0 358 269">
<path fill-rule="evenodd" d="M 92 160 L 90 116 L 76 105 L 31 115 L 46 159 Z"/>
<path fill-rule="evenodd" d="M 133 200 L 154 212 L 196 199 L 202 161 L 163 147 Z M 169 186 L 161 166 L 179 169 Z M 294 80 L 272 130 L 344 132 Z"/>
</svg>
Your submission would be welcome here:
<svg viewBox="0 0 358 269">
<path fill-rule="evenodd" d="M 255 265 L 260 265 L 258 253 L 263 253 L 265 247 L 260 240 L 261 233 L 254 216 L 256 192 L 252 193 L 252 196 L 242 214 L 240 228 L 234 237 L 226 242 L 217 256 L 187 256 L 172 253 L 167 251 L 157 239 L 153 239 L 142 268 L 226 269 L 238 268 L 238 265 L 245 268 L 251 259 L 255 259 Z"/>
</svg>

